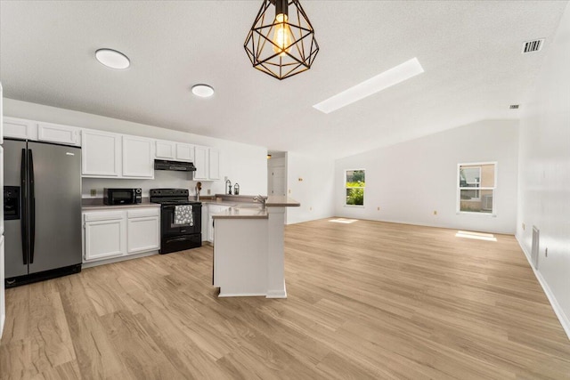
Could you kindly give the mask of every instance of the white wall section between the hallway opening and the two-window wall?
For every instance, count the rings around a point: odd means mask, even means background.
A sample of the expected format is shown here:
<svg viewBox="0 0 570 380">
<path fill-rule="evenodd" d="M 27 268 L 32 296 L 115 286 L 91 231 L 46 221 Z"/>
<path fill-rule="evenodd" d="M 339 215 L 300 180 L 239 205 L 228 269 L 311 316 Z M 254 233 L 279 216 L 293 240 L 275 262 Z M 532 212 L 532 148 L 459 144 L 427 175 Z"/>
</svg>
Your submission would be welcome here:
<svg viewBox="0 0 570 380">
<path fill-rule="evenodd" d="M 334 215 L 334 162 L 295 152 L 287 153 L 287 187 L 300 207 L 287 208 L 287 224 Z"/>
</svg>

